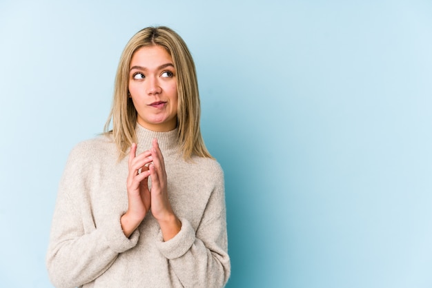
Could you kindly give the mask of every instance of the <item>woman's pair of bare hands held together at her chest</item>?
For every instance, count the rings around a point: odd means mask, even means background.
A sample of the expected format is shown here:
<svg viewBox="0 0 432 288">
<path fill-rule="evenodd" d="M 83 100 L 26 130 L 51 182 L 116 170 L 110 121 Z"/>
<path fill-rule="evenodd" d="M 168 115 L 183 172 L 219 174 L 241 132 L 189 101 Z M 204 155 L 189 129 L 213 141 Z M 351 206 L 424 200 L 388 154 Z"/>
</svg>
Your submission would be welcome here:
<svg viewBox="0 0 432 288">
<path fill-rule="evenodd" d="M 132 143 L 128 158 L 128 210 L 121 216 L 121 228 L 126 237 L 137 229 L 151 211 L 161 228 L 164 240 L 170 240 L 181 229 L 181 222 L 175 216 L 168 199 L 164 156 L 157 139 L 152 147 L 141 154 L 137 153 L 137 144 Z M 151 178 L 152 187 L 148 187 Z"/>
</svg>

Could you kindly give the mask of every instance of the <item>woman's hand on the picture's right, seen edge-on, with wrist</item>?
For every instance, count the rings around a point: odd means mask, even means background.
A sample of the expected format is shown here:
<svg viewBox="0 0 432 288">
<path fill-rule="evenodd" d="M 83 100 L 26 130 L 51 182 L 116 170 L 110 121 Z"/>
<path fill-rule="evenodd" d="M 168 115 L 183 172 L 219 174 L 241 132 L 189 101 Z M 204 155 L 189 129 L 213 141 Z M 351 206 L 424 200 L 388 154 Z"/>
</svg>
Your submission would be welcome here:
<svg viewBox="0 0 432 288">
<path fill-rule="evenodd" d="M 165 170 L 164 156 L 159 148 L 157 139 L 153 139 L 150 153 L 153 157 L 153 163 L 148 165 L 150 170 L 151 187 L 151 211 L 159 226 L 161 227 L 164 240 L 170 240 L 181 229 L 181 222 L 173 212 L 168 199 L 167 177 Z"/>
</svg>

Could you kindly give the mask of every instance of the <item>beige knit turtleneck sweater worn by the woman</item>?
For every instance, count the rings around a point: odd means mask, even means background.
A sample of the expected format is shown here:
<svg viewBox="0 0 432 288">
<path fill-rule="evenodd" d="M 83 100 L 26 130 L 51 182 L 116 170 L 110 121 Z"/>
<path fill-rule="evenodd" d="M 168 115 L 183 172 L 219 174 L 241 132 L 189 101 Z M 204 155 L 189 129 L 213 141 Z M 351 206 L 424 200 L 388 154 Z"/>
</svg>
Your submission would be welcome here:
<svg viewBox="0 0 432 288">
<path fill-rule="evenodd" d="M 186 162 L 177 130 L 137 125 L 138 153 L 157 138 L 166 163 L 168 194 L 181 231 L 162 240 L 149 212 L 129 238 L 120 217 L 128 208 L 127 157 L 107 136 L 79 143 L 59 184 L 47 254 L 56 287 L 223 287 L 230 276 L 224 174 L 210 158 Z"/>
</svg>

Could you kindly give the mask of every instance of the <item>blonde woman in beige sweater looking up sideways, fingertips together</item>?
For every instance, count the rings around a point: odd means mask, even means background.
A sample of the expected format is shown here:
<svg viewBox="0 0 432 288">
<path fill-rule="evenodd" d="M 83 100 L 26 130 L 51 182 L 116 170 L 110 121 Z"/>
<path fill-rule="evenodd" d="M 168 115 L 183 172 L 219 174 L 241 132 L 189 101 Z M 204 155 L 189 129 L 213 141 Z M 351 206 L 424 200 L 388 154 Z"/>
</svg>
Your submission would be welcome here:
<svg viewBox="0 0 432 288">
<path fill-rule="evenodd" d="M 224 175 L 199 116 L 184 41 L 166 27 L 139 31 L 121 55 L 105 134 L 79 143 L 61 178 L 47 254 L 57 287 L 226 284 Z"/>
</svg>

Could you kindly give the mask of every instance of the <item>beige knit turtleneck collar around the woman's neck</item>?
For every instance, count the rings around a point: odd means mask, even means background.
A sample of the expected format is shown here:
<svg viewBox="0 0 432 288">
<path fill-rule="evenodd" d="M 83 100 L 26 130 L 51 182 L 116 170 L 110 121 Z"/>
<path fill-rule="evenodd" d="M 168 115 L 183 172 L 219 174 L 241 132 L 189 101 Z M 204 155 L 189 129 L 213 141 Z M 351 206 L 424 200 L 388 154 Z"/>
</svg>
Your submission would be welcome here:
<svg viewBox="0 0 432 288">
<path fill-rule="evenodd" d="M 179 147 L 178 128 L 168 132 L 155 132 L 146 129 L 137 123 L 135 133 L 137 134 L 137 144 L 139 150 L 150 149 L 154 138 L 157 138 L 157 142 L 159 143 L 159 147 L 162 151 Z"/>
</svg>

